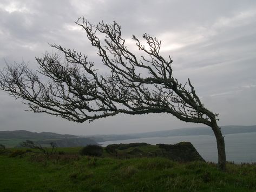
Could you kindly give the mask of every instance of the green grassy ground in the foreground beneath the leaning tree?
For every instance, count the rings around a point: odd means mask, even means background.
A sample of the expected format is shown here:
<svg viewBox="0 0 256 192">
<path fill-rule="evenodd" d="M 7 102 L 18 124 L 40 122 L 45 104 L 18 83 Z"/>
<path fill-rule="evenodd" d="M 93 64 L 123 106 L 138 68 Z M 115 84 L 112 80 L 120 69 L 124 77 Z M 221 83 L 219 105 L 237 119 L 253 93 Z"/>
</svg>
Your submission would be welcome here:
<svg viewBox="0 0 256 192">
<path fill-rule="evenodd" d="M 145 147 L 147 150 L 149 148 Z M 0 191 L 255 191 L 256 164 L 227 164 L 222 172 L 203 161 L 165 157 L 114 158 L 78 154 L 0 155 Z M 125 149 L 131 151 L 131 149 Z"/>
</svg>

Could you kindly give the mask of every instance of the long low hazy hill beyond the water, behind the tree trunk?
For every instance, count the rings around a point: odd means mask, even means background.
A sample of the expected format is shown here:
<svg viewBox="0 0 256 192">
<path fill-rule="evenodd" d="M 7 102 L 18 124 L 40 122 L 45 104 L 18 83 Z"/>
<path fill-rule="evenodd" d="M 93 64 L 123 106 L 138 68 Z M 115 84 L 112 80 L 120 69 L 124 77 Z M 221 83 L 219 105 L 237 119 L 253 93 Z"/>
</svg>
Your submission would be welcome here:
<svg viewBox="0 0 256 192">
<path fill-rule="evenodd" d="M 256 132 L 256 125 L 252 126 L 239 126 L 228 125 L 221 127 L 223 135 L 239 134 L 239 133 L 253 133 Z M 188 136 L 188 135 L 213 135 L 213 131 L 209 127 L 197 128 L 181 128 L 164 131 L 153 131 L 138 134 L 123 134 L 123 135 L 94 135 L 90 136 L 96 142 L 128 140 L 133 138 L 148 138 L 148 137 L 169 137 L 169 136 Z"/>
</svg>

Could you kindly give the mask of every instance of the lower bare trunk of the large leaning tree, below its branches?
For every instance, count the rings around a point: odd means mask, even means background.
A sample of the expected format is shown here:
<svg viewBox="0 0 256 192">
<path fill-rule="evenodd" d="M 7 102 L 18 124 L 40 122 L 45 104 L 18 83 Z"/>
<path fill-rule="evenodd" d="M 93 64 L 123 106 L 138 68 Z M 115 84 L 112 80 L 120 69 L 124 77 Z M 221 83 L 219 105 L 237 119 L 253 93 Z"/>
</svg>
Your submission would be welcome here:
<svg viewBox="0 0 256 192">
<path fill-rule="evenodd" d="M 217 142 L 218 167 L 221 170 L 225 170 L 226 169 L 226 151 L 225 151 L 224 136 L 222 136 L 221 130 L 216 123 L 214 123 L 211 127 Z"/>
</svg>

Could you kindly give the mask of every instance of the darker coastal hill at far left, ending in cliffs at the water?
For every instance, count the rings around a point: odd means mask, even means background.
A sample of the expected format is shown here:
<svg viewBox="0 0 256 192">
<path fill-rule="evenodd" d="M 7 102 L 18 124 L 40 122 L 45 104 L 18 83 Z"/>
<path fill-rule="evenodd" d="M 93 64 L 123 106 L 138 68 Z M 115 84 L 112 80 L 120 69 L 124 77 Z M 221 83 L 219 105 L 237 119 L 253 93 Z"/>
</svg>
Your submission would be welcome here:
<svg viewBox="0 0 256 192">
<path fill-rule="evenodd" d="M 30 132 L 26 130 L 0 131 L 0 143 L 7 147 L 19 147 L 19 143 L 32 140 L 39 144 L 55 142 L 58 147 L 83 147 L 88 144 L 98 144 L 92 138 L 79 137 L 76 135 L 62 135 L 50 132 Z"/>
</svg>

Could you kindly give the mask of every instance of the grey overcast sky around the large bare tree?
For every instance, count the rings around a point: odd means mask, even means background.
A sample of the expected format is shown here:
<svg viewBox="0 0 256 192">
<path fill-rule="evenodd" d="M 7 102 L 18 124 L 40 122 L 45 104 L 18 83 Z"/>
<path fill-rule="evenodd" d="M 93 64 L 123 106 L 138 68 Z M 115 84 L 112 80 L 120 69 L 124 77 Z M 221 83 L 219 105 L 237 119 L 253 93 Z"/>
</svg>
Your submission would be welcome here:
<svg viewBox="0 0 256 192">
<path fill-rule="evenodd" d="M 0 69 L 29 63 L 54 51 L 48 43 L 76 49 L 98 65 L 95 49 L 74 21 L 116 21 L 132 45 L 147 32 L 162 41 L 173 59 L 174 76 L 189 77 L 205 106 L 219 113 L 219 125 L 256 124 L 256 1 L 1 0 Z M 136 52 L 134 49 L 133 51 Z M 61 134 L 123 134 L 198 127 L 168 114 L 117 115 L 78 124 L 61 117 L 25 112 L 26 105 L 0 91 L 0 130 Z"/>
</svg>

